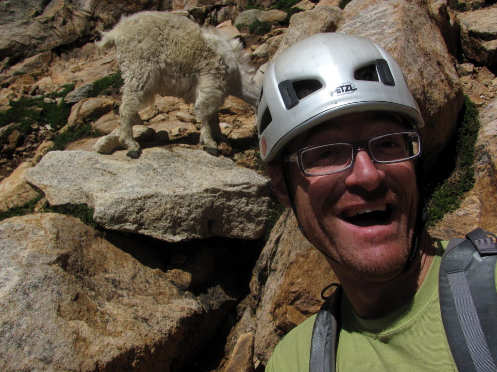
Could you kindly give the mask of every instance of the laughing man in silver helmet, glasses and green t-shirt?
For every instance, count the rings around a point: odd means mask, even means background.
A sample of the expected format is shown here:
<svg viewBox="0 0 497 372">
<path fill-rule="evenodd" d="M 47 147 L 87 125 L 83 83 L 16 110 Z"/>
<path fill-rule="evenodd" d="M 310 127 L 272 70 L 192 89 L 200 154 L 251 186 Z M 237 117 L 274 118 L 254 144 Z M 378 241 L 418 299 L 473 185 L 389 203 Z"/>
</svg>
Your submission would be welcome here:
<svg viewBox="0 0 497 372">
<path fill-rule="evenodd" d="M 417 192 L 423 120 L 392 56 L 348 34 L 298 42 L 266 71 L 257 124 L 278 198 L 342 287 L 337 345 L 318 351 L 331 367 L 311 371 L 458 371 L 438 299 L 444 247 Z M 309 371 L 327 322 L 292 330 L 266 372 Z"/>
</svg>

